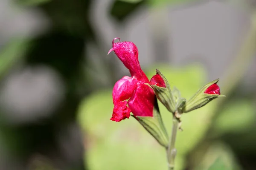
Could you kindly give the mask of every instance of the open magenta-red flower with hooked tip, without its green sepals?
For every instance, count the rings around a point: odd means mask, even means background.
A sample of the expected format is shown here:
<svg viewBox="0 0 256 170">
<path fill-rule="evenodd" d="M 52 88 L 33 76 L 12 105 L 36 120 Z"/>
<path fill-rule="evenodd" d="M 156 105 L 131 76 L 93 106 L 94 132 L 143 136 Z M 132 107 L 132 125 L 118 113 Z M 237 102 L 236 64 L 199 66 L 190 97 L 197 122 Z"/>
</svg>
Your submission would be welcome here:
<svg viewBox="0 0 256 170">
<path fill-rule="evenodd" d="M 145 83 L 149 83 L 148 77 L 140 68 L 138 49 L 133 42 L 114 42 L 108 51 L 114 51 L 116 56 L 129 69 L 131 77 L 125 76 L 116 82 L 113 88 L 113 114 L 111 120 L 120 122 L 134 116 L 153 116 L 154 91 Z M 127 101 L 128 100 L 128 101 Z"/>
</svg>

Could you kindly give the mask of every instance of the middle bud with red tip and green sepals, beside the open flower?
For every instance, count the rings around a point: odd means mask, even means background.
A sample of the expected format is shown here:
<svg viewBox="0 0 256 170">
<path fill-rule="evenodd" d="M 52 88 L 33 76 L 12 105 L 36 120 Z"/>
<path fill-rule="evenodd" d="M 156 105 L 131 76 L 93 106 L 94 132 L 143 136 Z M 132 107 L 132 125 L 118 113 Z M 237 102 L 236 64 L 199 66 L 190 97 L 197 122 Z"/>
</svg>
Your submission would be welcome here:
<svg viewBox="0 0 256 170">
<path fill-rule="evenodd" d="M 157 96 L 157 99 L 161 103 L 163 103 L 163 105 L 168 109 L 168 111 L 175 113 L 175 100 L 172 96 L 170 85 L 167 79 L 163 76 L 163 74 L 159 70 L 156 71 L 157 74 L 151 78 L 149 85 L 151 85 L 151 87 L 153 88 L 154 93 Z"/>
</svg>

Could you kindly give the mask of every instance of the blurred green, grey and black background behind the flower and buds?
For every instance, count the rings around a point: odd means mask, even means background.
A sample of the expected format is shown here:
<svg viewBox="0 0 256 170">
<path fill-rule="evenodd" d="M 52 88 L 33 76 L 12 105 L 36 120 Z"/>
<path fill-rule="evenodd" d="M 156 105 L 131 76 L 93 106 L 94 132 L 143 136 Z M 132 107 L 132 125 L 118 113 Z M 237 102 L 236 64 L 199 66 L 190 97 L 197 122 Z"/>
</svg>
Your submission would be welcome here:
<svg viewBox="0 0 256 170">
<path fill-rule="evenodd" d="M 182 116 L 175 170 L 256 169 L 255 0 L 0 0 L 0 170 L 167 169 L 135 119 L 109 120 L 129 75 L 114 37 L 186 99 L 221 79 L 225 98 Z"/>
</svg>

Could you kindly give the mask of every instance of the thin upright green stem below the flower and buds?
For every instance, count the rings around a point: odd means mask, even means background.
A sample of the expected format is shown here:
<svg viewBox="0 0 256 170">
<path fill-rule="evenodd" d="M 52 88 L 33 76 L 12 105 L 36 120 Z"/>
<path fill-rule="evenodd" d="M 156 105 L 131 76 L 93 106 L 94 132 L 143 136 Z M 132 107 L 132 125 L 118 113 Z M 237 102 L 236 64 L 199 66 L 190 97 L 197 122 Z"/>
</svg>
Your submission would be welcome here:
<svg viewBox="0 0 256 170">
<path fill-rule="evenodd" d="M 178 125 L 179 125 L 179 122 L 174 114 L 172 119 L 172 136 L 170 138 L 169 146 L 166 150 L 169 170 L 174 170 L 174 160 L 177 153 L 177 150 L 175 148 L 175 141 L 176 141 Z"/>
</svg>

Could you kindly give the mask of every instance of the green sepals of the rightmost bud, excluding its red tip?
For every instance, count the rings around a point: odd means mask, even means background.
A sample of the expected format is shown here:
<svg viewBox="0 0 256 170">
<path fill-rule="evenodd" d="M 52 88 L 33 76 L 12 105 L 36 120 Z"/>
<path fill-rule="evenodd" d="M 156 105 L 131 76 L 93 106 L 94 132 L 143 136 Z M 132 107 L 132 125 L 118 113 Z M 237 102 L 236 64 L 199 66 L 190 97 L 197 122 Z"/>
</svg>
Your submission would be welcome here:
<svg viewBox="0 0 256 170">
<path fill-rule="evenodd" d="M 186 102 L 185 107 L 183 107 L 183 113 L 201 108 L 202 106 L 206 105 L 213 99 L 216 99 L 218 97 L 224 97 L 224 95 L 218 95 L 218 94 L 205 94 L 207 88 L 209 88 L 210 85 L 213 85 L 217 83 L 220 79 L 215 79 L 211 82 L 208 82 L 206 85 L 204 85 L 201 89 L 197 91 L 197 93 Z"/>
</svg>

